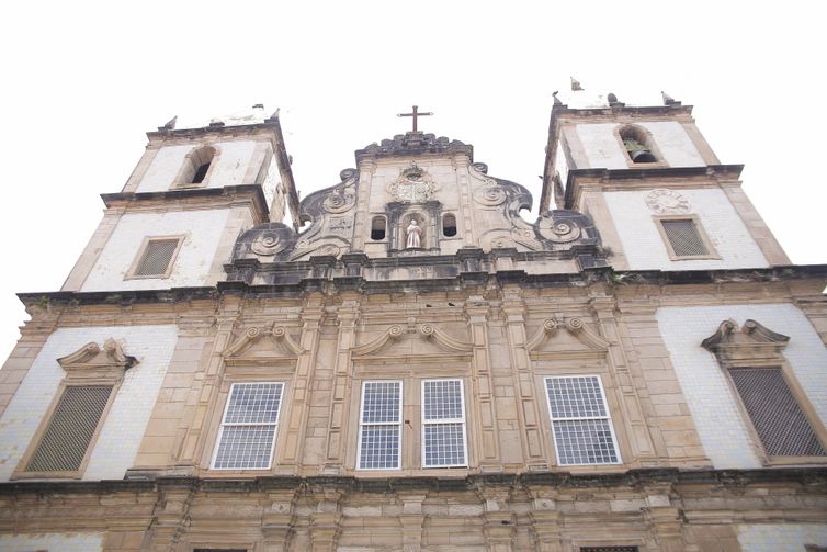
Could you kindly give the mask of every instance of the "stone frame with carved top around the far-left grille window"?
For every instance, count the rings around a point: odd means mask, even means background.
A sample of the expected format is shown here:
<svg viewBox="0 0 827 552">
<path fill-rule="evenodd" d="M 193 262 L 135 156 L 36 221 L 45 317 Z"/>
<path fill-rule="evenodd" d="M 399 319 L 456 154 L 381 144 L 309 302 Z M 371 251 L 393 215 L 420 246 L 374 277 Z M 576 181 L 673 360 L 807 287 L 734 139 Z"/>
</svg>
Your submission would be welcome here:
<svg viewBox="0 0 827 552">
<path fill-rule="evenodd" d="M 89 342 L 73 353 L 57 359 L 57 363 L 66 371 L 66 375 L 60 381 L 58 388 L 52 398 L 52 403 L 37 426 L 37 430 L 32 436 L 23 457 L 12 473 L 12 480 L 80 480 L 89 465 L 92 451 L 98 443 L 98 438 L 103 429 L 103 425 L 105 424 L 112 405 L 115 402 L 115 397 L 121 388 L 121 384 L 123 383 L 124 374 L 126 370 L 137 364 L 138 361 L 135 357 L 124 354 L 121 345 L 114 339 L 109 338 L 104 342 L 103 348 L 99 347 L 95 342 Z M 84 386 L 109 386 L 112 387 L 112 390 L 106 399 L 106 405 L 103 407 L 103 410 L 98 418 L 94 432 L 87 443 L 86 453 L 83 454 L 83 459 L 78 469 L 72 471 L 54 472 L 27 471 L 26 467 L 32 461 L 36 450 L 39 448 L 41 441 L 52 424 L 52 419 L 55 416 L 66 390 L 68 387 Z"/>
</svg>

